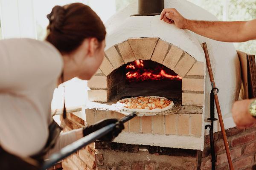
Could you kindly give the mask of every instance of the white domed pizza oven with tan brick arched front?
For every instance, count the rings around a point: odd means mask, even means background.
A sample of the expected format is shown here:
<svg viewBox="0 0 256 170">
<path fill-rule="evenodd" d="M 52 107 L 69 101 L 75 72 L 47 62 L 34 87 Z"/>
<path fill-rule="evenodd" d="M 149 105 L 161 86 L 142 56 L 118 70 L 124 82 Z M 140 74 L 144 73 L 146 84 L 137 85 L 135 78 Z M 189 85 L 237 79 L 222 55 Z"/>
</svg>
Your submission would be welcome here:
<svg viewBox="0 0 256 170">
<path fill-rule="evenodd" d="M 187 18 L 215 20 L 188 2 L 166 0 L 164 5 L 177 8 Z M 137 6 L 148 8 L 143 0 L 131 3 L 106 24 L 105 57 L 87 83 L 90 102 L 85 106 L 86 125 L 124 116 L 115 108 L 120 99 L 166 97 L 179 106 L 177 111 L 135 117 L 125 123 L 125 130 L 114 142 L 203 150 L 211 85 L 201 44 L 207 42 L 209 48 L 224 121 L 226 117 L 230 120 L 230 108 L 240 91 L 240 74 L 232 74 L 240 73 L 236 50 L 230 43 L 209 40 L 160 21 L 161 5 L 160 10 L 150 9 L 153 11 L 146 14 L 142 9 L 137 12 Z M 194 14 L 195 11 L 207 14 Z M 215 131 L 219 129 L 217 125 Z"/>
</svg>

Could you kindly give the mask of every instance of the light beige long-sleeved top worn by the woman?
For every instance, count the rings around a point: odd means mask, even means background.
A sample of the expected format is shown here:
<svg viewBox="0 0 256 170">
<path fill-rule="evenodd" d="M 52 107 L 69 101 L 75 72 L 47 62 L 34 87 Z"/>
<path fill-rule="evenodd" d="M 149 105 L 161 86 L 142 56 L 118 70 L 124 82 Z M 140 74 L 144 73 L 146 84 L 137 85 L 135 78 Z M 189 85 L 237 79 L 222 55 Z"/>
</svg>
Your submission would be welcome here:
<svg viewBox="0 0 256 170">
<path fill-rule="evenodd" d="M 5 150 L 31 156 L 44 147 L 62 66 L 61 54 L 49 42 L 0 41 L 0 145 Z M 76 140 L 76 130 L 62 133 L 51 152 Z"/>
</svg>

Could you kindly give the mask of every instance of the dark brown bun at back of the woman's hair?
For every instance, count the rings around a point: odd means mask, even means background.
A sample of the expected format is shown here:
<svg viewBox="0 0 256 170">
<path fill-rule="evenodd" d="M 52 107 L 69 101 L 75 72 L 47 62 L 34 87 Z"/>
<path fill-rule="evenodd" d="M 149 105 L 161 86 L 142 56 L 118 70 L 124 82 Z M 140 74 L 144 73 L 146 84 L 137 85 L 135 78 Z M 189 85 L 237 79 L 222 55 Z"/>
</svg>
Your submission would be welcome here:
<svg viewBox="0 0 256 170">
<path fill-rule="evenodd" d="M 58 30 L 61 31 L 61 26 L 64 23 L 65 9 L 62 6 L 54 6 L 51 13 L 47 15 L 49 20 L 49 26 L 47 29 L 50 31 Z"/>
</svg>

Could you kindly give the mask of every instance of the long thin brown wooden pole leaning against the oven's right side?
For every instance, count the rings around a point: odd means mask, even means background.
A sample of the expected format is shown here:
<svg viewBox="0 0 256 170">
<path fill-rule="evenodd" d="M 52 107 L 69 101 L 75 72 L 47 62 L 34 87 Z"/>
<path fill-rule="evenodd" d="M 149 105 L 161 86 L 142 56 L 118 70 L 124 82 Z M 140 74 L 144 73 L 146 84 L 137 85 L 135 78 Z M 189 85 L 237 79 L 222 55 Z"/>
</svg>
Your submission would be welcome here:
<svg viewBox="0 0 256 170">
<path fill-rule="evenodd" d="M 208 72 L 209 72 L 211 85 L 212 85 L 212 88 L 215 88 L 215 82 L 214 82 L 214 78 L 213 78 L 213 74 L 212 74 L 212 66 L 211 66 L 211 62 L 209 59 L 206 42 L 203 43 L 203 48 L 204 48 L 204 54 L 205 54 L 205 59 L 206 59 L 206 63 L 207 63 L 207 68 L 208 68 Z M 226 154 L 227 154 L 228 165 L 230 167 L 230 170 L 234 170 L 233 164 L 232 164 L 232 159 L 230 156 L 230 149 L 229 149 L 228 142 L 227 142 L 227 135 L 225 132 L 224 123 L 223 123 L 223 119 L 222 119 L 221 108 L 220 108 L 220 104 L 218 101 L 218 94 L 217 94 L 216 90 L 214 93 L 214 100 L 215 100 L 215 105 L 216 105 L 216 109 L 217 109 L 217 113 L 218 113 L 218 120 L 219 120 L 220 126 L 221 126 L 221 133 L 223 136 L 223 141 L 224 141 L 225 150 L 226 150 Z"/>
</svg>

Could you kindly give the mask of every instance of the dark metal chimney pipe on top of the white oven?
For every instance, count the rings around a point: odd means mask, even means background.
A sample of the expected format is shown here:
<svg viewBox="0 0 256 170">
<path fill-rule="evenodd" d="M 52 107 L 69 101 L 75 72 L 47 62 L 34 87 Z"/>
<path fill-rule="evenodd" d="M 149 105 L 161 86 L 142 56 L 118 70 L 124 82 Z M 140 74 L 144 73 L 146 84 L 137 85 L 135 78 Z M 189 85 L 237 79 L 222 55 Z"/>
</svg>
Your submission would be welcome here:
<svg viewBox="0 0 256 170">
<path fill-rule="evenodd" d="M 138 0 L 139 15 L 160 15 L 164 8 L 164 0 Z"/>
</svg>

